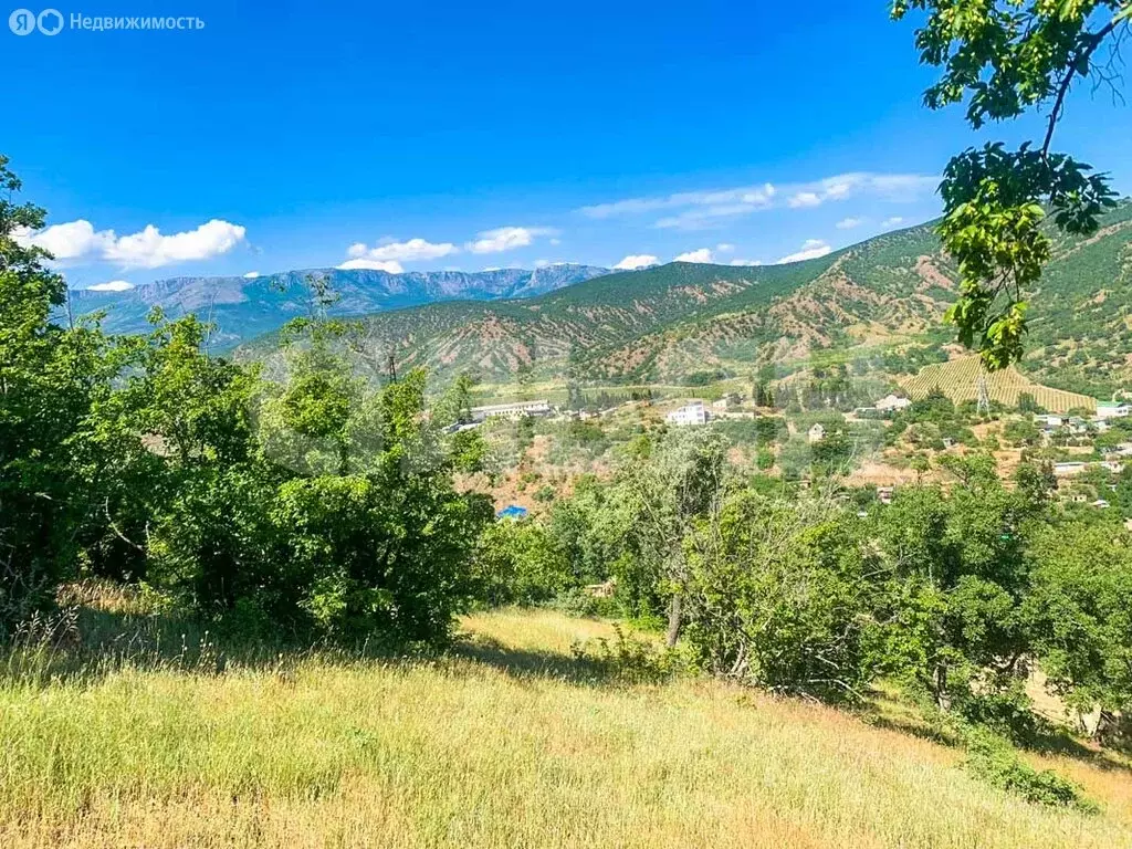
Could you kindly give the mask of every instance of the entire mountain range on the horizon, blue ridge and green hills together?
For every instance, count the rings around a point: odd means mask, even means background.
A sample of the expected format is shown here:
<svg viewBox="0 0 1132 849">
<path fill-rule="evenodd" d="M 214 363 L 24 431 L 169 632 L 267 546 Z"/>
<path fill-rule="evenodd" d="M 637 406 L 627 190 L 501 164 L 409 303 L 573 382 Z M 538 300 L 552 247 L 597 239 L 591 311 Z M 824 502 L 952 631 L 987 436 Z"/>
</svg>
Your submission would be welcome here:
<svg viewBox="0 0 1132 849">
<path fill-rule="evenodd" d="M 1050 235 L 1022 371 L 1095 397 L 1130 388 L 1132 201 L 1088 238 Z M 781 376 L 832 363 L 897 374 L 923 363 L 917 351 L 937 355 L 951 340 L 941 319 L 958 281 L 932 223 L 773 266 L 315 273 L 340 295 L 333 311 L 360 317 L 367 344 L 394 351 L 398 368 L 424 366 L 438 380 L 472 371 L 498 384 L 694 386 L 766 367 Z M 271 359 L 273 331 L 308 309 L 305 274 L 85 292 L 77 311 L 109 308 L 112 331 L 144 327 L 151 306 L 211 315 L 237 357 Z"/>
</svg>

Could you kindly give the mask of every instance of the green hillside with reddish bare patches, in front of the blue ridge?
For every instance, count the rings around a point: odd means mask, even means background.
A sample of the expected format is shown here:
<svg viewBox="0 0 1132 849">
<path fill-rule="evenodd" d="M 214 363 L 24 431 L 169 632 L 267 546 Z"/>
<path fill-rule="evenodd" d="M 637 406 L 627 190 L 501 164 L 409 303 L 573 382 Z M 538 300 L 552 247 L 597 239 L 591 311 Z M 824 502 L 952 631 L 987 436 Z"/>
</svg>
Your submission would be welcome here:
<svg viewBox="0 0 1132 849">
<path fill-rule="evenodd" d="M 1022 369 L 1108 394 L 1132 376 L 1132 203 L 1087 239 L 1060 238 L 1031 307 Z M 670 265 L 610 274 L 523 301 L 455 301 L 371 315 L 365 335 L 401 367 L 445 379 L 695 385 L 818 352 L 943 341 L 955 268 L 931 225 L 780 266 Z M 272 337 L 241 351 L 269 357 Z"/>
</svg>

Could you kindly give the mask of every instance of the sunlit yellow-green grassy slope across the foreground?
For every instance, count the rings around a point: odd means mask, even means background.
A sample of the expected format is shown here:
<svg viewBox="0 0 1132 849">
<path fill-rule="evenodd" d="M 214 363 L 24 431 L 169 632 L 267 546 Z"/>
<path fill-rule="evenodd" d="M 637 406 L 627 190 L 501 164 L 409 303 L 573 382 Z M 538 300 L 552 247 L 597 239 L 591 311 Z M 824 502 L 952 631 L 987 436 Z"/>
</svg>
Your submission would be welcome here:
<svg viewBox="0 0 1132 849">
<path fill-rule="evenodd" d="M 1036 807 L 829 707 L 551 674 L 599 623 L 465 625 L 431 663 L 5 684 L 0 846 L 1132 846 L 1123 769 L 1058 760 L 1105 813 Z"/>
</svg>

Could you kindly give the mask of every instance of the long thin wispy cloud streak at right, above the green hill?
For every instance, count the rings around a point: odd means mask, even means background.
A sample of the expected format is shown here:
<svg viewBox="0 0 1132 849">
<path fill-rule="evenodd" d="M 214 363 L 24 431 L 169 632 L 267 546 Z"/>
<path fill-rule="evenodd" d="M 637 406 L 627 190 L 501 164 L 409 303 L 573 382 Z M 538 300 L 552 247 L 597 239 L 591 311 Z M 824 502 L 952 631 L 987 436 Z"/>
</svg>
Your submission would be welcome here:
<svg viewBox="0 0 1132 849">
<path fill-rule="evenodd" d="M 829 200 L 868 196 L 883 200 L 915 200 L 935 190 L 937 177 L 926 174 L 880 174 L 866 171 L 835 174 L 809 182 L 739 186 L 729 189 L 681 191 L 658 197 L 636 197 L 582 207 L 590 218 L 612 218 L 668 212 L 654 226 L 705 230 L 723 220 L 751 215 L 761 209 L 787 206 L 814 207 Z"/>
</svg>

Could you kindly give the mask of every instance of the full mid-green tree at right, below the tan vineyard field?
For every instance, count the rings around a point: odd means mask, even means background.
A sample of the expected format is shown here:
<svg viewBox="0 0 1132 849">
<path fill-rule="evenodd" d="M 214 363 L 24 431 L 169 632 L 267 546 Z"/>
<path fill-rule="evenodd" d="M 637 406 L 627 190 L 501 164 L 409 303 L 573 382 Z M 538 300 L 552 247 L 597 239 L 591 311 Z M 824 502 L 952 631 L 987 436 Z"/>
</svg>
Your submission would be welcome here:
<svg viewBox="0 0 1132 849">
<path fill-rule="evenodd" d="M 877 514 L 886 571 L 877 667 L 943 709 L 977 706 L 1011 688 L 1027 649 L 1020 606 L 1028 586 L 1024 500 L 981 462 L 954 458 L 950 496 L 908 487 Z"/>
</svg>

